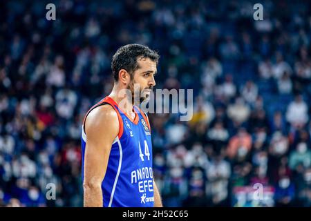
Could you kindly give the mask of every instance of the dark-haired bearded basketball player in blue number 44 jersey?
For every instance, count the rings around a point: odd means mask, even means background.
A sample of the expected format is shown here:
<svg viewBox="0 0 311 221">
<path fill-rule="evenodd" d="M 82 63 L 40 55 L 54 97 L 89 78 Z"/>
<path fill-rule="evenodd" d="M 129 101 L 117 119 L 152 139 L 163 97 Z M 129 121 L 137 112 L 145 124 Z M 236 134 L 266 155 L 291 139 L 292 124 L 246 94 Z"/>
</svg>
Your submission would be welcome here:
<svg viewBox="0 0 311 221">
<path fill-rule="evenodd" d="M 139 44 L 113 55 L 113 90 L 86 113 L 82 127 L 84 206 L 162 206 L 153 180 L 149 119 L 133 105 L 134 84 L 140 86 L 140 102 L 156 85 L 158 59 Z M 124 97 L 124 89 L 131 95 Z"/>
</svg>

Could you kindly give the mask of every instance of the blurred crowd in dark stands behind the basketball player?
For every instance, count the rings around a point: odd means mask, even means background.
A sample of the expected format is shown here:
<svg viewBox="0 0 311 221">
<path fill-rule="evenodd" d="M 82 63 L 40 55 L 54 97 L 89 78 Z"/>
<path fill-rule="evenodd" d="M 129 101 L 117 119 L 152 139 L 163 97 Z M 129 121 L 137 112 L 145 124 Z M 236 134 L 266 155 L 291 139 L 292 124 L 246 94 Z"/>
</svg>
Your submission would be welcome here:
<svg viewBox="0 0 311 221">
<path fill-rule="evenodd" d="M 194 89 L 191 121 L 149 114 L 164 206 L 311 206 L 310 2 L 0 2 L 0 206 L 83 205 L 82 119 L 133 43 Z"/>
</svg>

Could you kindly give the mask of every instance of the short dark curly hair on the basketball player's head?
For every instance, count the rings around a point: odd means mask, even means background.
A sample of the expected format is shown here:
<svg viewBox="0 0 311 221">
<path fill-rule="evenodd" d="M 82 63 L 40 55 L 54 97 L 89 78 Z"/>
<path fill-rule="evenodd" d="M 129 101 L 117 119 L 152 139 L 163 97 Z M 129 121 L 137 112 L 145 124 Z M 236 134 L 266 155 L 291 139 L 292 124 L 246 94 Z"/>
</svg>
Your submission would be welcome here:
<svg viewBox="0 0 311 221">
<path fill-rule="evenodd" d="M 149 58 L 151 61 L 156 61 L 158 64 L 160 56 L 158 52 L 141 44 L 127 44 L 122 46 L 117 49 L 111 62 L 113 79 L 115 79 L 115 81 L 119 80 L 119 71 L 121 69 L 126 70 L 131 75 L 131 78 L 133 78 L 133 73 L 139 68 L 138 58 Z"/>
</svg>

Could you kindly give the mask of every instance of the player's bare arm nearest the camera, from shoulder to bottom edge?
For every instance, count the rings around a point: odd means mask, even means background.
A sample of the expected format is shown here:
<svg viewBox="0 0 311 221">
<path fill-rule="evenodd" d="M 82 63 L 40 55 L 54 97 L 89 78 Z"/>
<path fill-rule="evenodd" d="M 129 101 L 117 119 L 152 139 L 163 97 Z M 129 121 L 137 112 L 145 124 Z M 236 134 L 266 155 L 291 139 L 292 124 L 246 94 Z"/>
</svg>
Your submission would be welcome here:
<svg viewBox="0 0 311 221">
<path fill-rule="evenodd" d="M 85 124 L 84 206 L 103 206 L 102 180 L 106 173 L 111 145 L 119 133 L 117 113 L 110 105 L 99 106 L 88 114 Z"/>
</svg>

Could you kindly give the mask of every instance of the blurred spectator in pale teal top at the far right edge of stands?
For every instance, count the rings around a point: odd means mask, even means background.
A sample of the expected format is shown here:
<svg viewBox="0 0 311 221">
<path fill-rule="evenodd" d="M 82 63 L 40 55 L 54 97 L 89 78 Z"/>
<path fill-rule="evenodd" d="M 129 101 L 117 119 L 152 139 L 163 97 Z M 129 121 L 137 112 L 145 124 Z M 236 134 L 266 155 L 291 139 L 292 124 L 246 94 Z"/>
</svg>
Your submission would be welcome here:
<svg viewBox="0 0 311 221">
<path fill-rule="evenodd" d="M 296 151 L 290 154 L 290 169 L 296 169 L 299 164 L 305 168 L 311 166 L 311 151 L 305 142 L 297 144 Z"/>
</svg>

